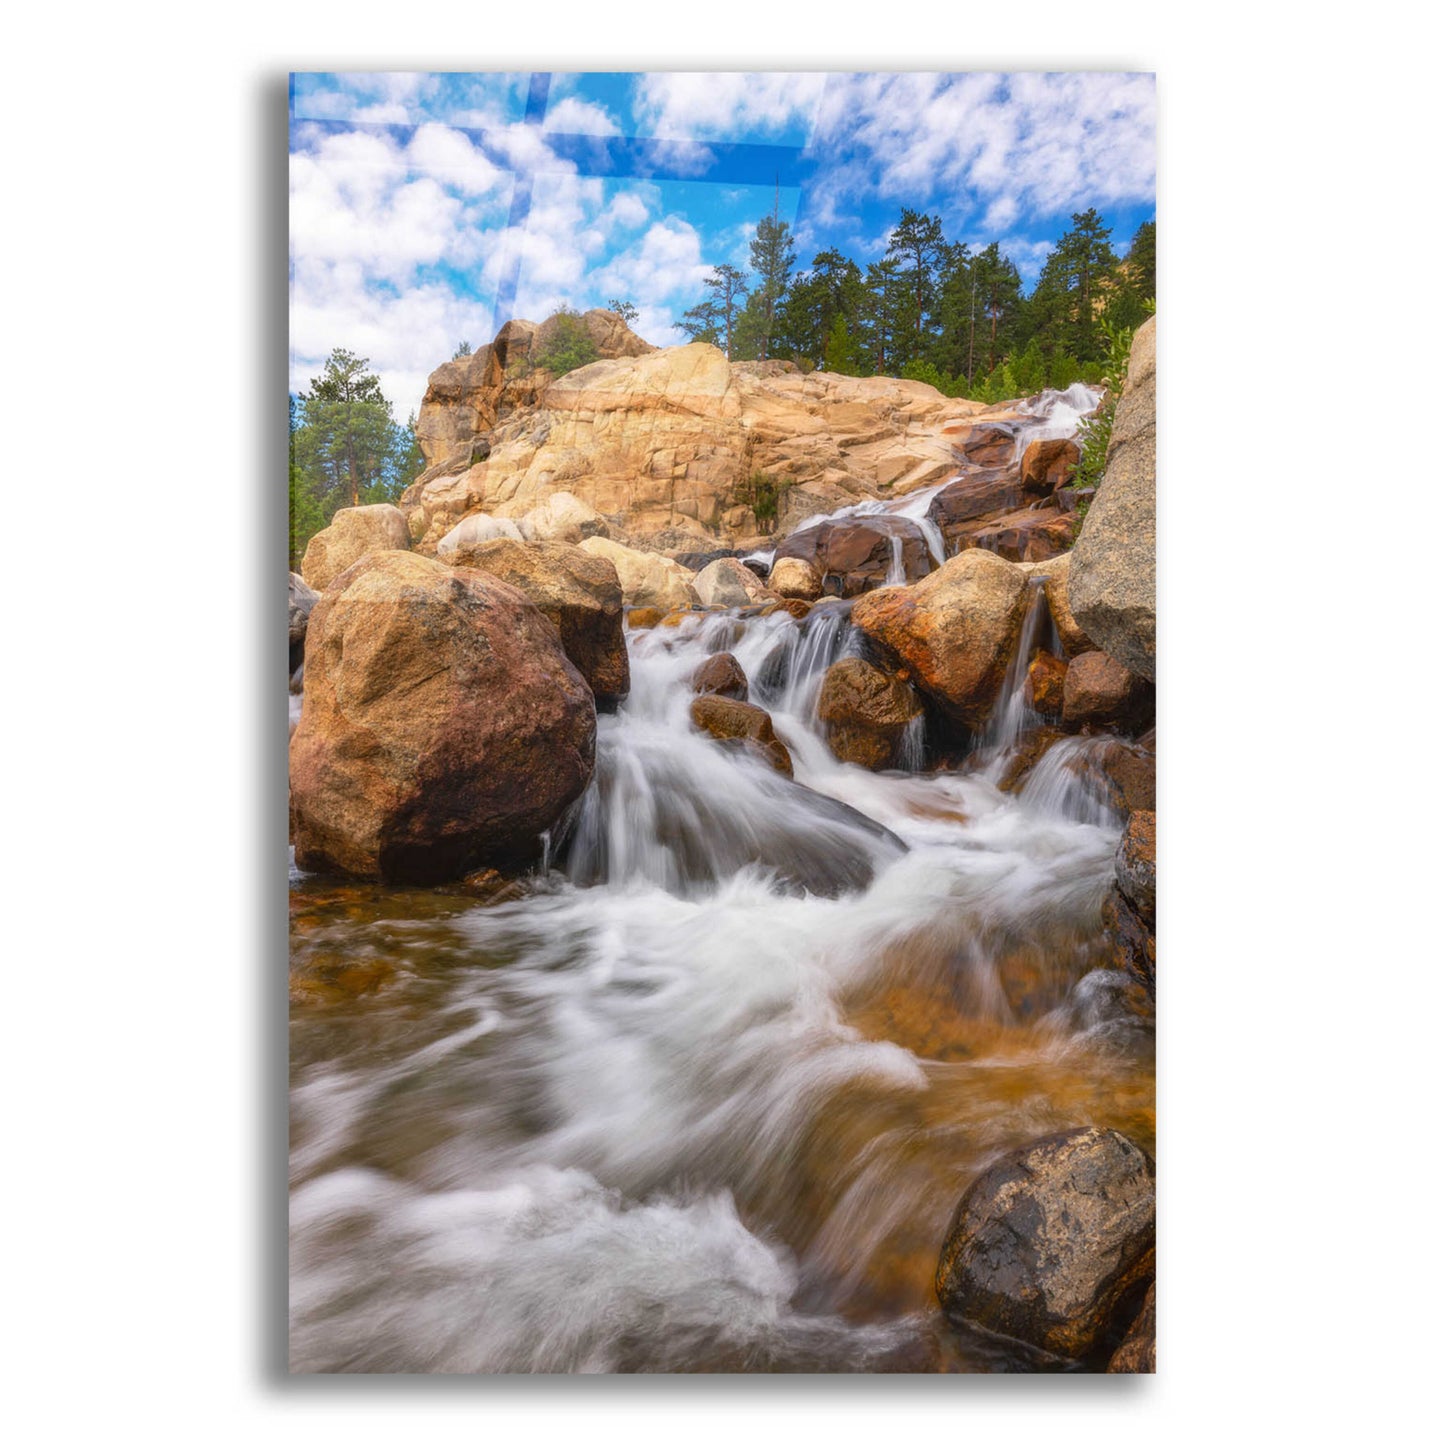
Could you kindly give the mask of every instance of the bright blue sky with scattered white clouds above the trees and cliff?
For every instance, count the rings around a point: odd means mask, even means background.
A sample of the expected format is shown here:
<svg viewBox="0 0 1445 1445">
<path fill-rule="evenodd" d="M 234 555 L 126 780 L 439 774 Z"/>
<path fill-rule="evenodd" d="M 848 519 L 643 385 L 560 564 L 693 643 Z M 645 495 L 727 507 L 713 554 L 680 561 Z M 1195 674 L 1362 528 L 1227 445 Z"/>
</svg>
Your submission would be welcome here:
<svg viewBox="0 0 1445 1445">
<path fill-rule="evenodd" d="M 334 347 L 397 419 L 458 341 L 621 296 L 657 345 L 776 199 L 802 266 L 902 207 L 1033 285 L 1075 211 L 1155 215 L 1155 82 L 1114 72 L 292 77 L 290 386 Z"/>
</svg>

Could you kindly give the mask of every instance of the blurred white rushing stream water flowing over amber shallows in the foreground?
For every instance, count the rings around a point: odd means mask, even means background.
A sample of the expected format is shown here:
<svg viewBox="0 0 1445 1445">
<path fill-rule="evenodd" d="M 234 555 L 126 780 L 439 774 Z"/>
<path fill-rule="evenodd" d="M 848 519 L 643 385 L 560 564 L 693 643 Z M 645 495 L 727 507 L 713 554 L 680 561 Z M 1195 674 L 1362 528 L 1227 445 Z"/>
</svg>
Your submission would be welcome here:
<svg viewBox="0 0 1445 1445">
<path fill-rule="evenodd" d="M 293 870 L 295 1370 L 1019 1367 L 932 1276 L 1003 1150 L 1153 1146 L 1100 967 L 1120 819 L 1066 766 L 838 763 L 814 709 L 857 646 L 847 603 L 631 633 L 592 786 L 490 902 Z M 796 780 L 689 727 L 720 649 Z"/>
</svg>

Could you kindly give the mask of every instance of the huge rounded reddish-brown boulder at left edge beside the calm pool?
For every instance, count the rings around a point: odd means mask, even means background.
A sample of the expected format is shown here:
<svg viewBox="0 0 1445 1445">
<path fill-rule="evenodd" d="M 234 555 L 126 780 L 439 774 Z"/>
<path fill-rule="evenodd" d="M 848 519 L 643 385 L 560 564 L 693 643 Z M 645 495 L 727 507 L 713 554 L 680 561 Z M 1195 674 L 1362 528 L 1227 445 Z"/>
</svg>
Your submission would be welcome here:
<svg viewBox="0 0 1445 1445">
<path fill-rule="evenodd" d="M 525 866 L 587 788 L 595 737 L 591 689 L 517 588 L 364 558 L 306 631 L 296 863 L 406 883 Z"/>
</svg>

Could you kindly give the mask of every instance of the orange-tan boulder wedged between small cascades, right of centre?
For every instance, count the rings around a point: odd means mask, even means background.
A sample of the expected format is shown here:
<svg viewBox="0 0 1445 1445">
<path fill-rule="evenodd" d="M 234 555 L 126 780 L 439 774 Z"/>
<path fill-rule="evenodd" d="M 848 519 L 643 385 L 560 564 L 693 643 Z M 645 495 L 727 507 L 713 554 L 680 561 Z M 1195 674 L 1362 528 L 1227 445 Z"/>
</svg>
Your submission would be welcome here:
<svg viewBox="0 0 1445 1445">
<path fill-rule="evenodd" d="M 945 712 L 981 728 L 1023 621 L 1022 568 L 972 549 L 915 587 L 860 597 L 853 623 Z"/>
</svg>

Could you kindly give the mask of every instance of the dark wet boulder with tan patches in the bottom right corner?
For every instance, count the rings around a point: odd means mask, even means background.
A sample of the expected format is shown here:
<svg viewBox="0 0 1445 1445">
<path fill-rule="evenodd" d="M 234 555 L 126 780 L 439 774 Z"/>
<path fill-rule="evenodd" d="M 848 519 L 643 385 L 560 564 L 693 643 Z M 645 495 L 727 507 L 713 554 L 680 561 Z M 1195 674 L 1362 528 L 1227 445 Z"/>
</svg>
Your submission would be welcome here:
<svg viewBox="0 0 1445 1445">
<path fill-rule="evenodd" d="M 1155 1165 L 1113 1129 L 1074 1129 L 968 1188 L 935 1280 L 959 1325 L 1069 1360 L 1121 1332 L 1155 1272 Z"/>
</svg>

